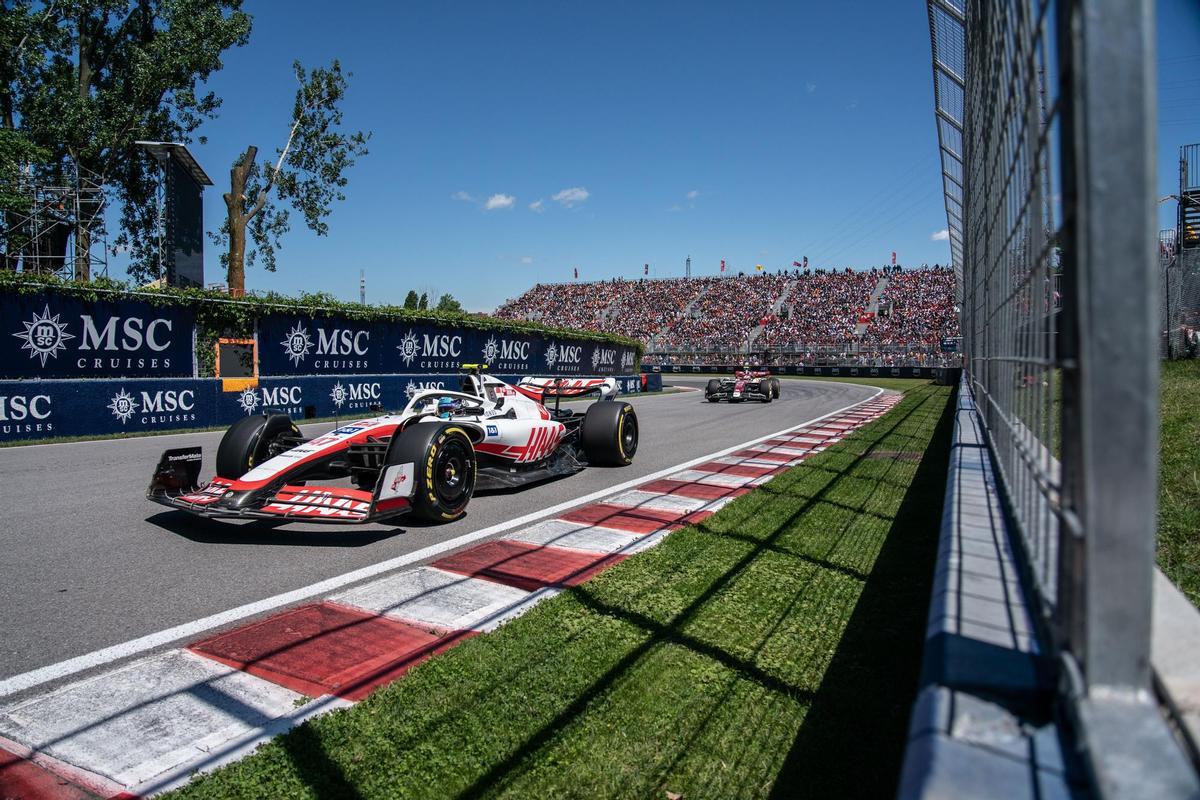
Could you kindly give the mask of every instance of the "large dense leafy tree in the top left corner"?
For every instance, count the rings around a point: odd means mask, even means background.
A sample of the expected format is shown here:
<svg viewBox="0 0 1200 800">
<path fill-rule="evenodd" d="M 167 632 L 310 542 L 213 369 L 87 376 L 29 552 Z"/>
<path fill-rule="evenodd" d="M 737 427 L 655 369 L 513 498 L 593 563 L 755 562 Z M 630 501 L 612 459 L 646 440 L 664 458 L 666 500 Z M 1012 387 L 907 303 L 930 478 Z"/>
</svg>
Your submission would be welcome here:
<svg viewBox="0 0 1200 800">
<path fill-rule="evenodd" d="M 0 125 L 48 151 L 38 178 L 79 174 L 116 197 L 114 245 L 134 254 L 131 271 L 145 271 L 157 253 L 156 176 L 134 142 L 187 143 L 216 116 L 221 101 L 199 86 L 224 50 L 248 41 L 241 0 L 0 0 L 0 19 L 12 54 L 0 66 Z M 91 211 L 70 224 L 76 276 L 86 279 L 103 219 Z"/>
</svg>

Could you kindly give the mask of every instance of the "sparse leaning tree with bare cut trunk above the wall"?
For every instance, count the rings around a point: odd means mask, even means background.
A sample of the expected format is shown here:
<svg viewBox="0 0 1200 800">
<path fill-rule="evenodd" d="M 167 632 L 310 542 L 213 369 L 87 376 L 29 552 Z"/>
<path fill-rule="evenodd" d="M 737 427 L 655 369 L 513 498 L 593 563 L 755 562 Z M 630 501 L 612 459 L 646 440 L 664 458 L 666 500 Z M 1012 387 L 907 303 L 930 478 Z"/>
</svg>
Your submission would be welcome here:
<svg viewBox="0 0 1200 800">
<path fill-rule="evenodd" d="M 305 224 L 318 236 L 329 233 L 325 218 L 334 200 L 344 200 L 344 173 L 356 158 L 367 155 L 370 133 L 340 131 L 341 102 L 347 76 L 335 59 L 328 67 L 306 72 L 299 61 L 292 65 L 300 88 L 292 109 L 292 130 L 283 148 L 276 150 L 274 167 L 259 166 L 258 148 L 250 145 L 229 170 L 229 192 L 224 194 L 226 221 L 214 241 L 227 246 L 221 264 L 227 270 L 229 294 L 246 290 L 246 265 L 260 257 L 263 267 L 275 271 L 275 251 L 290 230 L 288 207 L 299 211 Z M 274 192 L 274 197 L 272 197 Z M 247 236 L 253 248 L 246 249 Z"/>
</svg>

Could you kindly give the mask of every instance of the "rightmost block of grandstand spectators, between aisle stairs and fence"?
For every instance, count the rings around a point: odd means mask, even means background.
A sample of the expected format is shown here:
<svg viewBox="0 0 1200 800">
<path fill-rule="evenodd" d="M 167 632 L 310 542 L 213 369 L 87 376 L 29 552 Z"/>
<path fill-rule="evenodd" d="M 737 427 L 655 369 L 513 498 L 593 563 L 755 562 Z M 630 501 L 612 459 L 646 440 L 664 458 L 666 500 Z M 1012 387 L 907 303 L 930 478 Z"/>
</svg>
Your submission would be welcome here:
<svg viewBox="0 0 1200 800">
<path fill-rule="evenodd" d="M 880 312 L 863 336 L 869 345 L 937 344 L 959 335 L 954 271 L 931 267 L 893 275 Z"/>
</svg>

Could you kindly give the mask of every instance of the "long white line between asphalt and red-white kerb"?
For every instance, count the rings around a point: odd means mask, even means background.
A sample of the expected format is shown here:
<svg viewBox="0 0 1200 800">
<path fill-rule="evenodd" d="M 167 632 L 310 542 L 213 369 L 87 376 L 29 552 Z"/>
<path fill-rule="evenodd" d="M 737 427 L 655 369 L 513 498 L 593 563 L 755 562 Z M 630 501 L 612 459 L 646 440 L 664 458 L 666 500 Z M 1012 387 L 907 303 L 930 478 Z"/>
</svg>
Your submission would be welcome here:
<svg viewBox="0 0 1200 800">
<path fill-rule="evenodd" d="M 68 675 L 74 675 L 77 673 L 84 672 L 86 669 L 92 669 L 102 664 L 112 663 L 120 658 L 127 658 L 130 656 L 136 656 L 148 650 L 155 648 L 161 648 L 163 645 L 178 642 L 185 638 L 192 638 L 199 633 L 211 631 L 216 627 L 222 627 L 229 625 L 230 622 L 236 622 L 239 620 L 246 619 L 247 616 L 254 616 L 263 614 L 265 612 L 275 610 L 283 606 L 290 606 L 292 603 L 300 602 L 302 600 L 308 600 L 316 595 L 331 594 L 336 589 L 349 585 L 352 583 L 358 583 L 359 581 L 365 581 L 366 578 L 373 578 L 377 575 L 383 575 L 384 572 L 391 572 L 402 566 L 408 566 L 409 564 L 415 564 L 418 561 L 425 561 L 432 559 L 436 555 L 440 555 L 452 549 L 457 549 L 463 545 L 469 545 L 470 542 L 476 542 L 481 539 L 487 539 L 494 536 L 496 534 L 502 534 L 504 531 L 511 530 L 520 525 L 527 525 L 532 522 L 539 519 L 556 517 L 568 509 L 574 509 L 575 506 L 587 505 L 589 503 L 595 503 L 601 498 L 606 498 L 613 494 L 619 494 L 625 489 L 631 489 L 641 483 L 648 483 L 649 481 L 655 481 L 661 477 L 667 477 L 673 475 L 679 470 L 688 469 L 696 464 L 703 464 L 707 461 L 714 458 L 720 458 L 727 453 L 736 450 L 742 450 L 749 445 L 758 444 L 760 441 L 766 441 L 767 439 L 774 439 L 775 437 L 782 435 L 797 428 L 804 427 L 806 425 L 812 425 L 814 422 L 820 422 L 830 416 L 835 416 L 852 408 L 863 405 L 874 401 L 876 397 L 883 393 L 882 389 L 877 389 L 874 395 L 864 399 L 851 403 L 850 405 L 844 405 L 836 410 L 829 411 L 828 414 L 822 414 L 821 416 L 814 417 L 805 422 L 799 422 L 797 425 L 788 426 L 782 431 L 776 431 L 774 433 L 768 433 L 767 435 L 758 437 L 757 439 L 751 439 L 749 441 L 743 441 L 740 444 L 733 445 L 732 447 L 726 447 L 725 450 L 719 450 L 707 456 L 700 456 L 698 458 L 692 458 L 691 461 L 684 462 L 682 464 L 674 464 L 666 469 L 661 469 L 650 475 L 642 475 L 632 480 L 625 481 L 624 483 L 618 483 L 617 486 L 610 486 L 592 494 L 586 494 L 581 498 L 574 498 L 564 503 L 550 506 L 547 509 L 541 509 L 540 511 L 534 511 L 523 517 L 517 517 L 509 522 L 497 523 L 494 525 L 488 525 L 481 530 L 475 530 L 469 534 L 463 534 L 462 536 L 456 536 L 455 539 L 449 539 L 444 542 L 437 545 L 431 545 L 428 547 L 422 547 L 419 551 L 413 551 L 404 555 L 398 555 L 394 559 L 386 561 L 380 561 L 379 564 L 373 564 L 371 566 L 361 567 L 352 572 L 346 572 L 332 578 L 325 578 L 311 585 L 304 587 L 301 589 L 293 589 L 292 591 L 286 591 L 272 597 L 266 597 L 265 600 L 259 600 L 253 603 L 246 603 L 245 606 L 238 606 L 236 608 L 230 608 L 229 610 L 221 612 L 218 614 L 211 614 L 209 616 L 193 620 L 191 622 L 184 622 L 182 625 L 176 625 L 174 627 L 168 627 L 155 633 L 148 633 L 146 636 L 138 637 L 136 639 L 130 639 L 128 642 L 122 642 L 121 644 L 114 644 L 108 648 L 102 648 L 92 652 L 84 654 L 82 656 L 76 656 L 73 658 L 67 658 L 66 661 L 60 661 L 54 664 L 46 667 L 38 667 L 37 669 L 31 669 L 26 673 L 19 675 L 13 675 L 6 680 L 0 681 L 0 697 L 7 697 L 10 694 L 16 694 L 17 692 L 23 692 L 26 688 L 32 688 L 34 686 L 41 686 L 52 680 L 59 680 Z M 774 467 L 782 467 L 782 464 L 773 464 Z"/>
</svg>

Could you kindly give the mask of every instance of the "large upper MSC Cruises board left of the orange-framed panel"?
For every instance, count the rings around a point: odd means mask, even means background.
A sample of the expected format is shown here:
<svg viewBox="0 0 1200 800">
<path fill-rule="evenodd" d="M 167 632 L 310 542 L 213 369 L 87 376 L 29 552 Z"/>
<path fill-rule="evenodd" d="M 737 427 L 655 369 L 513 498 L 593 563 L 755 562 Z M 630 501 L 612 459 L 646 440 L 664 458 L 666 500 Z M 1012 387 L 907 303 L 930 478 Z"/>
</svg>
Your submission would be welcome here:
<svg viewBox="0 0 1200 800">
<path fill-rule="evenodd" d="M 140 300 L 0 295 L 0 378 L 196 375 L 196 315 Z"/>
</svg>

